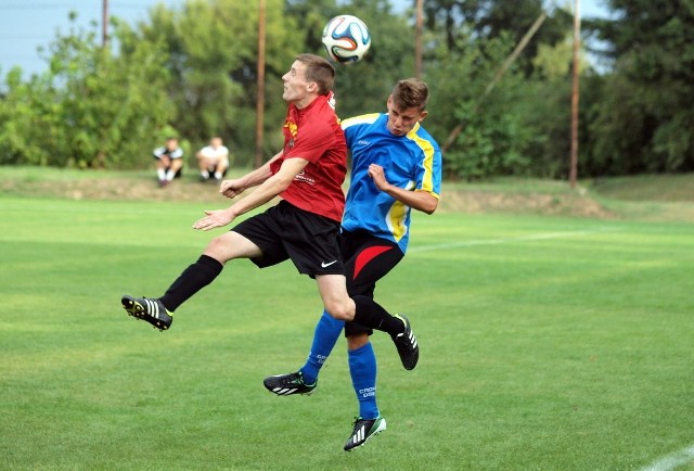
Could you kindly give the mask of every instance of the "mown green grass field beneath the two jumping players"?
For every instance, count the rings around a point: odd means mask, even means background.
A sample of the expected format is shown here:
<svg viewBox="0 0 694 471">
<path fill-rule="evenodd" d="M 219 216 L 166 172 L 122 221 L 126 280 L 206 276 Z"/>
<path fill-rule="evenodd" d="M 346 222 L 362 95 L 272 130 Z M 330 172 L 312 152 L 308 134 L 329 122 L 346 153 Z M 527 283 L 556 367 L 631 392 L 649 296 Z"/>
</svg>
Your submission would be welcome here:
<svg viewBox="0 0 694 471">
<path fill-rule="evenodd" d="M 312 396 L 262 387 L 320 314 L 292 265 L 232 262 L 168 332 L 120 308 L 198 256 L 203 207 L 0 198 L 0 469 L 639 470 L 694 445 L 693 224 L 416 217 L 377 297 L 420 365 L 374 335 L 388 430 L 347 454 L 343 341 Z"/>
</svg>

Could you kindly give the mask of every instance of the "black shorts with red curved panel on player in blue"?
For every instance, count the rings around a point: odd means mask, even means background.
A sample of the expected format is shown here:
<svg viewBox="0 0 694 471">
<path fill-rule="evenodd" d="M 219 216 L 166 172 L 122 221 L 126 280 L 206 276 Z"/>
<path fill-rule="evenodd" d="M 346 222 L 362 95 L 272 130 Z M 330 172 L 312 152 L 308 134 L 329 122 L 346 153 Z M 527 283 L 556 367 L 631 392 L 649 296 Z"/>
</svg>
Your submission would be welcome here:
<svg viewBox="0 0 694 471">
<path fill-rule="evenodd" d="M 361 294 L 373 298 L 376 281 L 388 273 L 404 254 L 395 242 L 371 236 L 367 231 L 347 232 L 343 230 L 339 247 L 345 260 L 347 292 L 350 296 Z M 359 323 L 345 322 L 345 336 L 373 330 Z"/>
</svg>

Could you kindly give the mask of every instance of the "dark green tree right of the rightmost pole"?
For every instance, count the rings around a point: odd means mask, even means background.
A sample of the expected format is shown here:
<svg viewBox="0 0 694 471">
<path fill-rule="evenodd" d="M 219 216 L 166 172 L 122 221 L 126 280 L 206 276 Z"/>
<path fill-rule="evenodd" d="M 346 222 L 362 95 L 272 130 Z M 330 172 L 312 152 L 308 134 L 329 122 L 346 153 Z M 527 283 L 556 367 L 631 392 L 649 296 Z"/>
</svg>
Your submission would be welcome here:
<svg viewBox="0 0 694 471">
<path fill-rule="evenodd" d="M 599 23 L 615 71 L 594 126 L 608 174 L 694 169 L 694 8 L 691 2 L 611 0 Z"/>
</svg>

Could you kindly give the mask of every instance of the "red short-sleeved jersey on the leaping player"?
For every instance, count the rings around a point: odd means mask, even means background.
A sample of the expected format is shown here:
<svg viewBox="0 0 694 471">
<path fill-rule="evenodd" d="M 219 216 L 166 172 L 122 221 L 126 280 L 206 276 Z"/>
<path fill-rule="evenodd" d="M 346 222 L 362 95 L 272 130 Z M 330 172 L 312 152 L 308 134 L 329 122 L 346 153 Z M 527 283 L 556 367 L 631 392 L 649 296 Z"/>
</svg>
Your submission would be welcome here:
<svg viewBox="0 0 694 471">
<path fill-rule="evenodd" d="M 319 96 L 303 110 L 290 104 L 282 131 L 284 152 L 271 164 L 272 174 L 287 158 L 300 157 L 309 163 L 280 196 L 300 209 L 339 222 L 345 209 L 342 186 L 347 174 L 347 144 L 333 93 Z"/>
</svg>

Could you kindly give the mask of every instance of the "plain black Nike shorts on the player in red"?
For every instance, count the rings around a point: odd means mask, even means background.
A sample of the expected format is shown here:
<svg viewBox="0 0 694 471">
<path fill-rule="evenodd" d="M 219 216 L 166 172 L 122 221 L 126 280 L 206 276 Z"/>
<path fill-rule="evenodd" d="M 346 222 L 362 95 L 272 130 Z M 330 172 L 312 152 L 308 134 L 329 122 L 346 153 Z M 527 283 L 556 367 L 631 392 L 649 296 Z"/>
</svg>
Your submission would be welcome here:
<svg viewBox="0 0 694 471">
<path fill-rule="evenodd" d="M 344 275 L 339 254 L 339 224 L 282 200 L 277 206 L 235 226 L 262 252 L 250 260 L 260 268 L 292 259 L 299 273 Z"/>
</svg>

